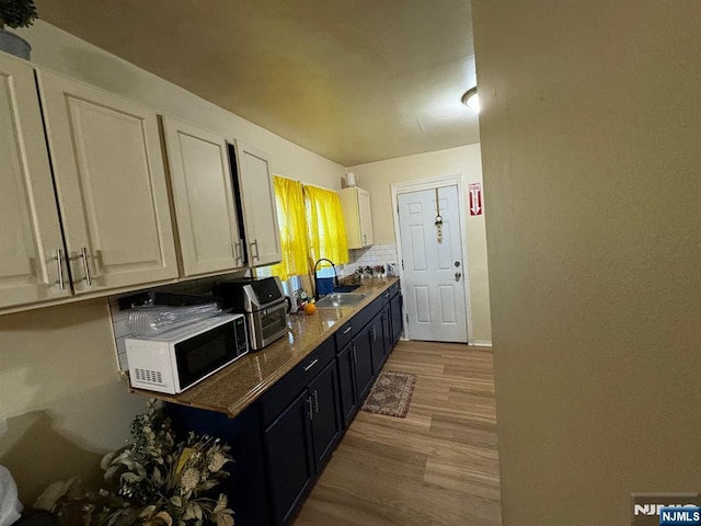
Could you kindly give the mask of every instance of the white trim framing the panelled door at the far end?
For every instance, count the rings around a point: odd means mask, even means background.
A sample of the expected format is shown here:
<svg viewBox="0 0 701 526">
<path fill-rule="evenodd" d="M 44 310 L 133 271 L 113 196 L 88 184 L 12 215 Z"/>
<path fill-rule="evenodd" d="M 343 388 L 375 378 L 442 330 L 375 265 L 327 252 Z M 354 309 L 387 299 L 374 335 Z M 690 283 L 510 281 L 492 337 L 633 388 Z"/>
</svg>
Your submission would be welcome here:
<svg viewBox="0 0 701 526">
<path fill-rule="evenodd" d="M 392 216 L 394 218 L 394 239 L 397 240 L 397 258 L 399 259 L 399 277 L 401 279 L 402 295 L 406 294 L 404 288 L 404 255 L 402 252 L 402 238 L 400 236 L 399 225 L 399 201 L 397 196 L 399 194 L 407 194 L 410 192 L 420 192 L 422 190 L 433 190 L 438 186 L 458 186 L 458 211 L 460 213 L 460 250 L 462 255 L 462 288 L 464 289 L 464 306 L 466 306 L 466 320 L 468 325 L 468 345 L 474 345 L 474 338 L 472 335 L 472 304 L 470 301 L 470 265 L 468 259 L 468 224 L 467 224 L 467 206 L 463 192 L 462 172 L 456 175 L 447 175 L 439 178 L 418 179 L 415 181 L 407 181 L 405 183 L 393 183 L 391 185 L 392 191 Z M 402 307 L 402 316 L 404 317 L 404 338 L 411 340 L 412 335 L 409 330 L 409 323 L 406 322 L 406 310 Z"/>
</svg>

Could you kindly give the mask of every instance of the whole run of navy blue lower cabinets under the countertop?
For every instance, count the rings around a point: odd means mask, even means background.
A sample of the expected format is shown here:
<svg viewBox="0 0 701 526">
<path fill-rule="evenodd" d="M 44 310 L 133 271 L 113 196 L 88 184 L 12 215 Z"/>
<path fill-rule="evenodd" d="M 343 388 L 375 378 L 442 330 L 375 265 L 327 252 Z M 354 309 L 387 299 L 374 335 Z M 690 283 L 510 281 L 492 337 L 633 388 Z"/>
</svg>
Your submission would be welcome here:
<svg viewBox="0 0 701 526">
<path fill-rule="evenodd" d="M 166 404 L 181 433 L 218 436 L 231 445 L 235 464 L 220 491 L 237 526 L 294 521 L 342 430 L 370 392 L 402 333 L 401 322 L 401 295 L 377 298 L 235 419 Z"/>
</svg>

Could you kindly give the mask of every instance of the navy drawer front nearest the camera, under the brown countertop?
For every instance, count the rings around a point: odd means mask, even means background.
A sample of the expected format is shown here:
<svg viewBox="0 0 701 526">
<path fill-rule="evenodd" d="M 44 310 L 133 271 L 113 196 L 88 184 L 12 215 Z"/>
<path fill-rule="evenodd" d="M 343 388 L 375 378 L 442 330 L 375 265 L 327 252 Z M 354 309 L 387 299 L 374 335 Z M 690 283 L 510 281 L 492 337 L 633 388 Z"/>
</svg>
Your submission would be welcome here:
<svg viewBox="0 0 701 526">
<path fill-rule="evenodd" d="M 268 424 L 336 355 L 333 338 L 319 345 L 261 398 L 263 422 Z"/>
</svg>

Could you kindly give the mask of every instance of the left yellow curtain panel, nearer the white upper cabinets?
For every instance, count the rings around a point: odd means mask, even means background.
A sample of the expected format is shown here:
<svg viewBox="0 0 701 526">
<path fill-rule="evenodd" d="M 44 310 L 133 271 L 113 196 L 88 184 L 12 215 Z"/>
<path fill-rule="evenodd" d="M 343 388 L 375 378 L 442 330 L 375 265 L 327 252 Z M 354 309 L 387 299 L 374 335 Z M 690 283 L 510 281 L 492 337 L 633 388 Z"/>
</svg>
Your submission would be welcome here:
<svg viewBox="0 0 701 526">
<path fill-rule="evenodd" d="M 309 244 L 307 242 L 304 194 L 302 183 L 299 181 L 275 175 L 273 182 L 275 184 L 283 261 L 273 265 L 271 273 L 284 281 L 308 272 Z"/>
</svg>

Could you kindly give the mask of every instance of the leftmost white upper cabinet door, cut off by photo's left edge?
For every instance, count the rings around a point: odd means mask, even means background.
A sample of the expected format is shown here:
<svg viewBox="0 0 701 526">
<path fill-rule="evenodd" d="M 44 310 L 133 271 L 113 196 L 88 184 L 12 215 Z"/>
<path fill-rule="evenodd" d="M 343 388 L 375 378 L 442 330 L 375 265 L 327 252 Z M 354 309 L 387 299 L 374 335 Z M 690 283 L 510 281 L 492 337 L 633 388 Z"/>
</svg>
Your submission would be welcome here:
<svg viewBox="0 0 701 526">
<path fill-rule="evenodd" d="M 34 69 L 0 54 L 0 308 L 70 296 L 62 251 Z"/>
</svg>

